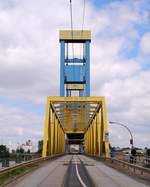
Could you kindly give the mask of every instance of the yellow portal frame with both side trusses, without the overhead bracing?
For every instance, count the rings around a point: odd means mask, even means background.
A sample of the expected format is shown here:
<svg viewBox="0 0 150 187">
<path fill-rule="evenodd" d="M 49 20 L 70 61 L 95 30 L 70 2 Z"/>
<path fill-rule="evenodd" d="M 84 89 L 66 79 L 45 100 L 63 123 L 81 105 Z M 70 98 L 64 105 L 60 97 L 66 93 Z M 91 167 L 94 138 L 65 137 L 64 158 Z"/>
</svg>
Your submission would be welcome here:
<svg viewBox="0 0 150 187">
<path fill-rule="evenodd" d="M 60 113 L 55 109 L 55 104 L 62 108 L 62 105 L 66 103 L 85 103 L 89 106 L 91 103 L 97 104 L 96 110 L 84 129 L 84 152 L 92 156 L 105 155 L 109 158 L 105 97 L 47 97 L 42 157 L 65 153 L 67 129 L 63 128 L 64 124 L 59 117 Z"/>
</svg>

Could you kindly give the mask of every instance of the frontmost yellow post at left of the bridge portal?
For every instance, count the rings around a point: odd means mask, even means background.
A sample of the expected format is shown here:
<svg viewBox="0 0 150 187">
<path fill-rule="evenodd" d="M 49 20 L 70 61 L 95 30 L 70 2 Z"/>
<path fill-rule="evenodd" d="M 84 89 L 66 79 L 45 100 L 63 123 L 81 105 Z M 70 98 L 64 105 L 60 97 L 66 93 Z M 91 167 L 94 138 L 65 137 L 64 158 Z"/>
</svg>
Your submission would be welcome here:
<svg viewBox="0 0 150 187">
<path fill-rule="evenodd" d="M 43 140 L 43 150 L 42 150 L 42 158 L 46 158 L 47 156 L 47 141 L 48 141 L 48 128 L 49 128 L 49 111 L 50 111 L 50 103 L 47 98 L 46 104 L 46 116 L 45 116 L 45 127 L 44 127 L 44 140 Z"/>
</svg>

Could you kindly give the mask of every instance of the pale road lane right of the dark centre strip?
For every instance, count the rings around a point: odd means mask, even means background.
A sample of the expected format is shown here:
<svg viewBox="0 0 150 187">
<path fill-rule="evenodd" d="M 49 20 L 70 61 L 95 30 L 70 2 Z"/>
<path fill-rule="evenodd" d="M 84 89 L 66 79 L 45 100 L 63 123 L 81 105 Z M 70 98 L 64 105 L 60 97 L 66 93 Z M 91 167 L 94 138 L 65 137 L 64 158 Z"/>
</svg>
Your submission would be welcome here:
<svg viewBox="0 0 150 187">
<path fill-rule="evenodd" d="M 97 187 L 148 187 L 148 185 L 136 181 L 100 161 L 84 155 L 81 155 L 80 159 L 83 160 L 90 177 Z"/>
</svg>

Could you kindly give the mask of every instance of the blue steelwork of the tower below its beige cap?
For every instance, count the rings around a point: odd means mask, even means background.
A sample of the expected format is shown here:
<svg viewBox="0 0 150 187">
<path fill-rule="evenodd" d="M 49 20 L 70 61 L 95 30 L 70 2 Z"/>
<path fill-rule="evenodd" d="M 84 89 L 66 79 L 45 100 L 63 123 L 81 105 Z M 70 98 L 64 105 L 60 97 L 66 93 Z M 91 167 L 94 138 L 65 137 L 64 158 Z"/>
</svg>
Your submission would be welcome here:
<svg viewBox="0 0 150 187">
<path fill-rule="evenodd" d="M 70 54 L 65 54 L 65 43 L 70 41 L 60 41 L 60 96 L 70 97 L 73 94 L 76 96 L 90 96 L 90 41 L 78 41 L 85 48 L 84 58 L 65 58 Z M 70 51 L 70 50 L 68 50 Z M 65 84 L 85 84 L 84 90 L 68 89 Z"/>
</svg>

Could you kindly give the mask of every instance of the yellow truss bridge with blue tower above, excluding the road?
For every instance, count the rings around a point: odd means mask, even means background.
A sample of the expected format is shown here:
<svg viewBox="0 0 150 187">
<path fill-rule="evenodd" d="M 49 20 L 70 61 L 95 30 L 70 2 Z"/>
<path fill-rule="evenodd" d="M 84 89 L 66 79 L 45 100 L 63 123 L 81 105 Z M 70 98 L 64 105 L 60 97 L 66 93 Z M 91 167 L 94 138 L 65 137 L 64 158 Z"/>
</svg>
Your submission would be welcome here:
<svg viewBox="0 0 150 187">
<path fill-rule="evenodd" d="M 42 157 L 69 153 L 76 144 L 80 153 L 109 158 L 105 97 L 90 96 L 91 31 L 62 30 L 59 41 L 60 96 L 47 97 Z"/>
</svg>

